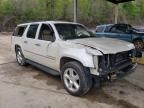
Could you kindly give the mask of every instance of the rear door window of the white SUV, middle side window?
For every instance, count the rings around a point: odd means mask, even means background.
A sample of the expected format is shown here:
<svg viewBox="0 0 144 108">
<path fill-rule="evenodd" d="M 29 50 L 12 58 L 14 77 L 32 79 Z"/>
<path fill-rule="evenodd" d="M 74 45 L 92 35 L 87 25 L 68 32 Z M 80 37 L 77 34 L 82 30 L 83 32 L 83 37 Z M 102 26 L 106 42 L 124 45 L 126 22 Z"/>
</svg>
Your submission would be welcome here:
<svg viewBox="0 0 144 108">
<path fill-rule="evenodd" d="M 30 25 L 30 27 L 28 29 L 28 32 L 27 32 L 27 37 L 28 38 L 35 39 L 38 26 L 39 26 L 39 24 Z"/>
</svg>

